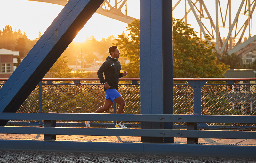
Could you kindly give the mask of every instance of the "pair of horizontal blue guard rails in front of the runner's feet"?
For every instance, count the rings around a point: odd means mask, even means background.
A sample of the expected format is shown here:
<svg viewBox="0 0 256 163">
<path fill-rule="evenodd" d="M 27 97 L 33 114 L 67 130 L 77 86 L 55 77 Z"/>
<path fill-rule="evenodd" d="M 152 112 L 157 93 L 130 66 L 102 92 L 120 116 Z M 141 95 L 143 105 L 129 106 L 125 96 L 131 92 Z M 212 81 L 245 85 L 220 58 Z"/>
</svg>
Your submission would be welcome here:
<svg viewBox="0 0 256 163">
<path fill-rule="evenodd" d="M 88 114 L 88 113 L 0 113 L 0 119 L 45 120 L 127 120 L 143 122 L 187 123 L 255 123 L 255 116 L 219 115 L 152 115 L 152 114 Z M 170 130 L 170 129 L 113 129 L 72 127 L 0 127 L 0 133 L 45 135 L 150 136 L 186 138 L 255 139 L 255 131 Z"/>
</svg>

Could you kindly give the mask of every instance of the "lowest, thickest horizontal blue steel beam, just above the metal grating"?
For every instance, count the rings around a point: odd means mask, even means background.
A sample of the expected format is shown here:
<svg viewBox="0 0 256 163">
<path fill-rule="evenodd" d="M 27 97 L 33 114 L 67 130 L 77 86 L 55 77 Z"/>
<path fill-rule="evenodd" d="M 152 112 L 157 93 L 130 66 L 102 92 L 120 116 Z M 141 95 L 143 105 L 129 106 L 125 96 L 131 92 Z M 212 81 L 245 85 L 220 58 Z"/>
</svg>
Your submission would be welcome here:
<svg viewBox="0 0 256 163">
<path fill-rule="evenodd" d="M 135 155 L 253 158 L 255 146 L 173 143 L 70 142 L 40 140 L 0 140 L 1 150 L 84 152 Z M 86 148 L 85 148 L 86 147 Z M 111 149 L 111 150 L 110 150 Z"/>
</svg>

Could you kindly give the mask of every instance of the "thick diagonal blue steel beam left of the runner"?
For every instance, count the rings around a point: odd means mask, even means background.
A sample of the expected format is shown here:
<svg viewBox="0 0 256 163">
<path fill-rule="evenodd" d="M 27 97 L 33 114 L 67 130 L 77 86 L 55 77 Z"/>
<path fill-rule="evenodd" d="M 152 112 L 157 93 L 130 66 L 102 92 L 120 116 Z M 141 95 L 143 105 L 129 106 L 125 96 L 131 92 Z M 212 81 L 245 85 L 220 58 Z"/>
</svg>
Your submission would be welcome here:
<svg viewBox="0 0 256 163">
<path fill-rule="evenodd" d="M 0 89 L 0 112 L 16 112 L 103 0 L 70 0 Z M 0 120 L 4 126 L 8 120 Z"/>
</svg>

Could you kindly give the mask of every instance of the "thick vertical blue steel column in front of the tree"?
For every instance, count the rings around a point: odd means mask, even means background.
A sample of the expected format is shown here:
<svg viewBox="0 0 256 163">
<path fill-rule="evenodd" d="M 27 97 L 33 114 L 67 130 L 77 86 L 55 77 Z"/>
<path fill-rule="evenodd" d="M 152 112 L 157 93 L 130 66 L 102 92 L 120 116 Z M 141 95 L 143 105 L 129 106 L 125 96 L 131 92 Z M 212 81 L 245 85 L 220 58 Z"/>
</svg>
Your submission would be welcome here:
<svg viewBox="0 0 256 163">
<path fill-rule="evenodd" d="M 141 114 L 173 113 L 172 1 L 140 0 L 140 72 Z M 141 122 L 141 128 L 171 129 L 173 124 Z"/>
</svg>

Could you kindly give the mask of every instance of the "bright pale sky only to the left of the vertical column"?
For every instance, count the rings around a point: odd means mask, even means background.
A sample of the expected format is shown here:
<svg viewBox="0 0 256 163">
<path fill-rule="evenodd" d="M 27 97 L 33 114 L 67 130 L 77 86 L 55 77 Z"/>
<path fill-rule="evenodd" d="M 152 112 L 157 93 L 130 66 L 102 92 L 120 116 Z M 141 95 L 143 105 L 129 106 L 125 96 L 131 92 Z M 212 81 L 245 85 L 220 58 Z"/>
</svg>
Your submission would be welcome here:
<svg viewBox="0 0 256 163">
<path fill-rule="evenodd" d="M 133 0 L 133 5 L 128 10 L 129 16 L 140 18 L 139 0 Z M 130 5 L 127 3 L 127 6 Z M 27 0 L 0 0 L 0 30 L 10 25 L 12 30 L 21 30 L 27 37 L 34 40 L 39 31 L 43 34 L 52 21 L 60 13 L 64 6 L 44 2 Z M 127 7 L 128 8 L 128 7 Z M 126 30 L 127 24 L 108 18 L 100 14 L 93 14 L 77 34 L 74 41 L 84 42 L 87 37 L 94 36 L 97 40 L 107 38 L 110 35 L 117 37 Z"/>
</svg>

